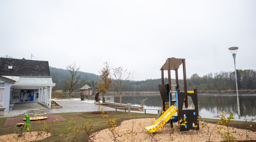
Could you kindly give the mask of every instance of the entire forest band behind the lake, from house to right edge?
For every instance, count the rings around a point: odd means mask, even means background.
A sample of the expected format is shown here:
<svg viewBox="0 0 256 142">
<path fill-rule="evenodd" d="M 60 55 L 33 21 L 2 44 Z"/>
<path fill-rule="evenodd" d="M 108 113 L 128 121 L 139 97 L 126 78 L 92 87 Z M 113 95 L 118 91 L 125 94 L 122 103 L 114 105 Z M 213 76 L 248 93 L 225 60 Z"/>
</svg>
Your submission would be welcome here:
<svg viewBox="0 0 256 142">
<path fill-rule="evenodd" d="M 58 69 L 50 67 L 50 71 L 53 76 L 53 82 L 56 83 L 55 90 L 65 90 L 63 83 L 65 83 L 66 77 L 69 75 L 68 70 Z M 78 86 L 82 87 L 85 84 L 94 87 L 97 80 L 100 80 L 100 76 L 80 72 L 81 77 Z M 256 71 L 255 70 L 236 70 L 237 73 L 237 86 L 239 90 L 255 90 L 256 89 Z M 158 84 L 161 84 L 161 78 L 147 79 L 142 81 L 131 81 L 131 85 L 124 88 L 123 91 L 159 91 Z M 176 84 L 175 79 L 171 79 L 172 84 Z M 164 83 L 167 84 L 167 78 L 164 78 Z M 182 90 L 183 79 L 179 79 L 180 89 Z M 215 73 L 208 73 L 203 77 L 198 74 L 193 74 L 190 78 L 187 78 L 188 90 L 236 90 L 235 72 L 220 71 Z M 172 88 L 174 89 L 174 88 Z M 114 91 L 113 87 L 110 91 Z"/>
</svg>

